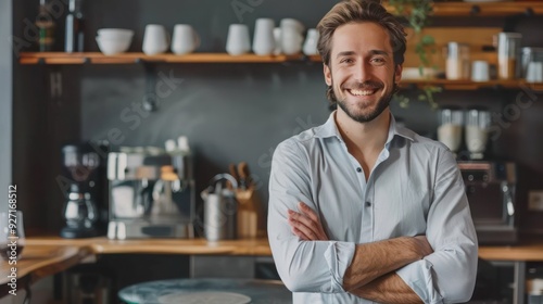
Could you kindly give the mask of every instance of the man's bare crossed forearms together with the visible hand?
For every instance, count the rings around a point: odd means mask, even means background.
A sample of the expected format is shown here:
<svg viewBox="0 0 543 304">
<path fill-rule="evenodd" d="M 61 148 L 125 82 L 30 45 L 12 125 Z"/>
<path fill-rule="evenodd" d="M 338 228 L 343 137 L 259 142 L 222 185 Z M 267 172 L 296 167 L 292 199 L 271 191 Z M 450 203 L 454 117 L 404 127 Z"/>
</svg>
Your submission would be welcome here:
<svg viewBox="0 0 543 304">
<path fill-rule="evenodd" d="M 292 232 L 306 241 L 328 240 L 316 213 L 304 203 L 299 204 L 299 210 L 300 213 L 289 210 Z M 394 270 L 432 252 L 424 236 L 358 244 L 345 271 L 343 288 L 354 295 L 376 302 L 422 303 Z"/>
</svg>

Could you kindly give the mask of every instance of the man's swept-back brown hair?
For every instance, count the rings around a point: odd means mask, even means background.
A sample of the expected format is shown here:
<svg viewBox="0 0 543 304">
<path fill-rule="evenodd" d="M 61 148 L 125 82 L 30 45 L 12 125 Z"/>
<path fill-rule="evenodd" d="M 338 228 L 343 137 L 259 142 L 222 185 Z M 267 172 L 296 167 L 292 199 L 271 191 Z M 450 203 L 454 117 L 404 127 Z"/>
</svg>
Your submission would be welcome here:
<svg viewBox="0 0 543 304">
<path fill-rule="evenodd" d="M 357 22 L 374 22 L 382 26 L 389 33 L 394 64 L 404 63 L 406 34 L 396 17 L 387 12 L 379 1 L 344 0 L 333 5 L 317 25 L 319 33 L 317 49 L 324 64 L 330 66 L 331 41 L 336 29 L 341 25 Z M 337 101 L 330 86 L 326 94 L 330 101 Z"/>
</svg>

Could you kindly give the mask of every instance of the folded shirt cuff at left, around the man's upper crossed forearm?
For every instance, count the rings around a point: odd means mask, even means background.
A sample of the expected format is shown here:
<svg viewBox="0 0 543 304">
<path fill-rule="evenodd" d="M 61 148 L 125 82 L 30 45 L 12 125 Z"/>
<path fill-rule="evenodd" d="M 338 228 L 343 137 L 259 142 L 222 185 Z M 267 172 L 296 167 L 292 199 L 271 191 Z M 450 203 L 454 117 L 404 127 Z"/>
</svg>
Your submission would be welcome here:
<svg viewBox="0 0 543 304">
<path fill-rule="evenodd" d="M 323 287 L 321 292 L 337 293 L 345 292 L 343 290 L 343 276 L 346 268 L 351 265 L 354 255 L 354 243 L 331 241 L 325 251 L 325 261 L 330 269 L 330 286 Z"/>
</svg>

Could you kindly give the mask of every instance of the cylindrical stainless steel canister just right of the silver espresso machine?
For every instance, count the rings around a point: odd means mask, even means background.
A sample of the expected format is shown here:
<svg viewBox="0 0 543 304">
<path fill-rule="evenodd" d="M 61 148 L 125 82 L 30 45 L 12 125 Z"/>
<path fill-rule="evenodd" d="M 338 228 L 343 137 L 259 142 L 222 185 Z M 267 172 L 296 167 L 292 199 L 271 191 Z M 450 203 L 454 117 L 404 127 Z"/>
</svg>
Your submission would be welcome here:
<svg viewBox="0 0 543 304">
<path fill-rule="evenodd" d="M 217 174 L 201 193 L 204 201 L 204 235 L 209 241 L 237 238 L 238 202 L 236 193 L 223 186 L 226 180 L 231 182 L 235 190 L 238 188 L 231 175 Z"/>
</svg>

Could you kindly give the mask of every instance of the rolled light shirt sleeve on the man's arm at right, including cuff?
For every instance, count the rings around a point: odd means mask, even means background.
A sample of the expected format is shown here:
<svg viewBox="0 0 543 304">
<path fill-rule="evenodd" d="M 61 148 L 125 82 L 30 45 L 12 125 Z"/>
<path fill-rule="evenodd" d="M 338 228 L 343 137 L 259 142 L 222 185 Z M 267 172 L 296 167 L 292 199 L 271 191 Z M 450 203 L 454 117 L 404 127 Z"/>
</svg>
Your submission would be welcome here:
<svg viewBox="0 0 543 304">
<path fill-rule="evenodd" d="M 477 235 L 464 181 L 452 154 L 442 150 L 427 238 L 434 252 L 396 273 L 425 303 L 459 303 L 471 297 L 477 276 Z"/>
</svg>

